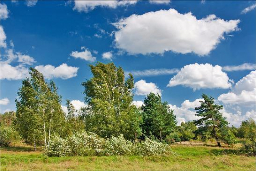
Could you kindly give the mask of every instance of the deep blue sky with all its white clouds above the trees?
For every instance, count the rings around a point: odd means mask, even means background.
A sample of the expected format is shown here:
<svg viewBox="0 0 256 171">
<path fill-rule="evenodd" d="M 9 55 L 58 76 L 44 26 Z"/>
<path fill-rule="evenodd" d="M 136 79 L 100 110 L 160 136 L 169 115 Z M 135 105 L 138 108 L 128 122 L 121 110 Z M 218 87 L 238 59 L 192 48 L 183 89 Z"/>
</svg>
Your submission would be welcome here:
<svg viewBox="0 0 256 171">
<path fill-rule="evenodd" d="M 160 92 L 180 123 L 206 93 L 238 126 L 255 118 L 255 16 L 255 1 L 1 0 L 0 111 L 15 110 L 29 67 L 80 107 L 100 61 L 133 73 L 136 104 Z"/>
</svg>

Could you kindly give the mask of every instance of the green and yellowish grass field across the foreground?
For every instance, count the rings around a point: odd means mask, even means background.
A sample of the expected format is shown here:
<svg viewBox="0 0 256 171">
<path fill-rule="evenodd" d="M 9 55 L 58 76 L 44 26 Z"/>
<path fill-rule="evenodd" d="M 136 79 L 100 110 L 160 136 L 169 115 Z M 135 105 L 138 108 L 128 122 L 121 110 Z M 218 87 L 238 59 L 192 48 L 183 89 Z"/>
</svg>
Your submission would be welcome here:
<svg viewBox="0 0 256 171">
<path fill-rule="evenodd" d="M 46 157 L 32 146 L 1 147 L 1 170 L 256 170 L 239 150 L 175 144 L 171 156 Z M 40 150 L 40 149 L 39 149 Z"/>
</svg>

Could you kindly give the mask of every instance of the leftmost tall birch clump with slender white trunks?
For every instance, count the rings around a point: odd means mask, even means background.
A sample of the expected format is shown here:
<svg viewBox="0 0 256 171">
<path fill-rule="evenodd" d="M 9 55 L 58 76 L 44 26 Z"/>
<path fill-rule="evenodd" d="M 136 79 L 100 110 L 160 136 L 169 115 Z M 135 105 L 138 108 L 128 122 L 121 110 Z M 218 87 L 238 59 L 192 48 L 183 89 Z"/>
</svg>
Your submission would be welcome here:
<svg viewBox="0 0 256 171">
<path fill-rule="evenodd" d="M 44 137 L 45 148 L 50 143 L 51 132 L 61 134 L 65 122 L 61 109 L 61 97 L 53 81 L 45 82 L 42 73 L 30 68 L 31 78 L 24 79 L 16 100 L 15 124 L 20 134 L 28 141 L 36 142 Z"/>
</svg>

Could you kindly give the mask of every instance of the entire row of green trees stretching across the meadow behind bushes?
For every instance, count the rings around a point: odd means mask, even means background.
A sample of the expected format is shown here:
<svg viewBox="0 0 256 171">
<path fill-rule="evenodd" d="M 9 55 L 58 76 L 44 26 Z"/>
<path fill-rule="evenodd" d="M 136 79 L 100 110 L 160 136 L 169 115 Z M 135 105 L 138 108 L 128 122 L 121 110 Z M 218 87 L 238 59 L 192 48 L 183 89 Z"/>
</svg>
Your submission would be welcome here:
<svg viewBox="0 0 256 171">
<path fill-rule="evenodd" d="M 11 125 L 12 134 L 16 132 L 17 137 L 33 144 L 35 149 L 36 144 L 42 142 L 47 149 L 52 135 L 66 137 L 84 130 L 103 138 L 122 134 L 127 140 L 139 141 L 148 137 L 163 143 L 214 138 L 218 146 L 221 146 L 221 141 L 236 143 L 236 136 L 246 138 L 253 131 L 255 135 L 255 127 L 248 126 L 252 123 L 255 125 L 255 121 L 243 121 L 239 129 L 230 128 L 220 113 L 223 106 L 214 104 L 214 98 L 205 94 L 202 95 L 204 100 L 200 101 L 201 105 L 195 108 L 196 116 L 200 119 L 176 126 L 173 110 L 167 102 L 162 102 L 159 94 L 149 93 L 141 107 L 132 103 L 132 74 L 126 79 L 123 69 L 113 63 L 98 62 L 90 65 L 90 69 L 92 78 L 82 82 L 83 95 L 88 105 L 76 111 L 70 100 L 66 100 L 68 112 L 65 113 L 55 83 L 52 80 L 46 82 L 42 73 L 30 68 L 30 78 L 22 81 L 17 93 L 17 110 L 10 115 L 11 124 L 5 123 L 5 115 L 1 115 L 1 126 Z M 250 127 L 252 133 L 241 131 L 248 132 L 245 125 Z M 1 142 L 2 134 L 1 131 Z M 255 143 L 255 136 L 250 141 Z"/>
</svg>

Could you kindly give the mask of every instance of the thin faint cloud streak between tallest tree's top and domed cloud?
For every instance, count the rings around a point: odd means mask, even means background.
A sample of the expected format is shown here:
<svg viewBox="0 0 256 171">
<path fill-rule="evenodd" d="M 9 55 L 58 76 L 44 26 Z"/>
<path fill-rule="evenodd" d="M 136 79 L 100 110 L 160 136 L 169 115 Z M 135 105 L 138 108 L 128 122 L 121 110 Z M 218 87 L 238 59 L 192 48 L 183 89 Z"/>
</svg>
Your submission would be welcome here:
<svg viewBox="0 0 256 171">
<path fill-rule="evenodd" d="M 149 70 L 135 70 L 135 71 L 127 71 L 126 75 L 128 73 L 133 74 L 133 76 L 158 76 L 158 75 L 172 75 L 175 73 L 178 73 L 179 69 L 149 69 Z"/>
</svg>

